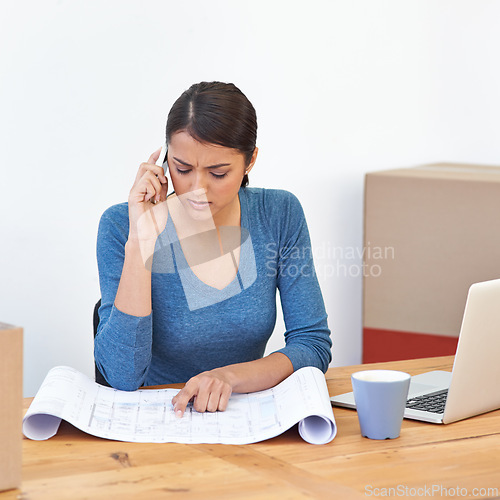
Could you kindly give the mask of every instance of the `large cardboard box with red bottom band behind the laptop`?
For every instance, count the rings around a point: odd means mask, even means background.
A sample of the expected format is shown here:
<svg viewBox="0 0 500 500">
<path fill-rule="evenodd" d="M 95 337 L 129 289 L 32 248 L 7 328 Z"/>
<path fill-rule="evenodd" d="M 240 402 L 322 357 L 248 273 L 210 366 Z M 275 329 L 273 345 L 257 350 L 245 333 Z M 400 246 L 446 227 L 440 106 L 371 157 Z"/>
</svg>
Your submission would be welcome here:
<svg viewBox="0 0 500 500">
<path fill-rule="evenodd" d="M 366 175 L 363 361 L 454 354 L 469 286 L 500 277 L 500 167 Z"/>
</svg>

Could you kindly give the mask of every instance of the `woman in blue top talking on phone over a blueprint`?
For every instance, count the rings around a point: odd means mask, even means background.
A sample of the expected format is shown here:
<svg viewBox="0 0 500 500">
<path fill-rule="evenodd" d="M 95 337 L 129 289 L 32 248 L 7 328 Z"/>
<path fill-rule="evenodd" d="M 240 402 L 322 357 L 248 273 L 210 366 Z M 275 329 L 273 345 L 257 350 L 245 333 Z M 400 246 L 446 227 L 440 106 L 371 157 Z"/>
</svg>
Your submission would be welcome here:
<svg viewBox="0 0 500 500">
<path fill-rule="evenodd" d="M 102 293 L 96 364 L 122 390 L 185 382 L 174 398 L 225 410 L 231 393 L 268 389 L 303 366 L 326 371 L 330 331 L 298 200 L 246 187 L 255 110 L 232 84 L 202 82 L 167 120 L 166 162 L 141 164 L 128 203 L 99 225 Z M 263 357 L 280 291 L 286 347 Z"/>
</svg>

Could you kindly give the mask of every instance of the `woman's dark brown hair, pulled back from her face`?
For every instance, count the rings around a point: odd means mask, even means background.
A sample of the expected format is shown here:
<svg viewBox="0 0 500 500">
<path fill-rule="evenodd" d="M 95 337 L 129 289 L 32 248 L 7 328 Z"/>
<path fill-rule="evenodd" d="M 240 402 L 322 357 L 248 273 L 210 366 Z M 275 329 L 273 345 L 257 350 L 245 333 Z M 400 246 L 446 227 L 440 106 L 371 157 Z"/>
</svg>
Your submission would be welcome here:
<svg viewBox="0 0 500 500">
<path fill-rule="evenodd" d="M 191 85 L 172 106 L 167 144 L 182 131 L 200 142 L 237 149 L 248 166 L 257 141 L 257 116 L 252 103 L 232 83 L 201 82 Z M 247 185 L 245 174 L 241 186 Z"/>
</svg>

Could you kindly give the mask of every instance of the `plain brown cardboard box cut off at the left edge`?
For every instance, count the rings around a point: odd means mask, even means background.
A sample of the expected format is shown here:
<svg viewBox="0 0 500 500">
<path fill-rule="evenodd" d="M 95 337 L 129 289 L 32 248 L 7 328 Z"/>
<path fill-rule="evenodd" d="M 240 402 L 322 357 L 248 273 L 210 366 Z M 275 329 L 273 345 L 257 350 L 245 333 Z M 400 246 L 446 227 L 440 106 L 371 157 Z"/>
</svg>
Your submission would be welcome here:
<svg viewBox="0 0 500 500">
<path fill-rule="evenodd" d="M 23 329 L 0 323 L 0 491 L 21 486 Z"/>
</svg>

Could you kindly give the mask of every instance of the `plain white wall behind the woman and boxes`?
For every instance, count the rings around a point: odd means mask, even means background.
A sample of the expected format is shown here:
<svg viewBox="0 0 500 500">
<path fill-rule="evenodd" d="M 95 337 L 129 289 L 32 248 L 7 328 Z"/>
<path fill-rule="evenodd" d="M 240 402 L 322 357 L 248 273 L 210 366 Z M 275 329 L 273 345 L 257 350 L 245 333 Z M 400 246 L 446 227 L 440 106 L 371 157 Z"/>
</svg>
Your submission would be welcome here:
<svg viewBox="0 0 500 500">
<path fill-rule="evenodd" d="M 500 163 L 499 21 L 485 0 L 2 3 L 0 320 L 25 329 L 25 395 L 55 365 L 92 374 L 99 216 L 201 80 L 254 103 L 251 184 L 301 199 L 334 364 L 359 362 L 361 259 L 331 276 L 322 255 L 361 251 L 366 172 Z"/>
</svg>

